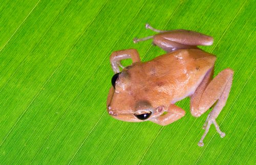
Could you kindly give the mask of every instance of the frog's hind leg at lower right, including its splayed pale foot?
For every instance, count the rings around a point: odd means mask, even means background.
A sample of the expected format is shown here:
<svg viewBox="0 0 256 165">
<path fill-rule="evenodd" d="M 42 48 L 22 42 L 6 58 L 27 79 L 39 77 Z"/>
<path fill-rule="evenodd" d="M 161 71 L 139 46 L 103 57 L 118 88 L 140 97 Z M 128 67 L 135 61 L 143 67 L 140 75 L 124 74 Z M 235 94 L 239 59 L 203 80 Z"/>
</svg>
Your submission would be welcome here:
<svg viewBox="0 0 256 165">
<path fill-rule="evenodd" d="M 209 70 L 205 75 L 204 80 L 190 100 L 190 110 L 191 114 L 194 116 L 200 116 L 216 103 L 205 121 L 203 127 L 205 132 L 198 143 L 198 146 L 200 147 L 204 145 L 203 139 L 208 133 L 211 124 L 215 125 L 216 130 L 221 137 L 225 136 L 225 133 L 220 130 L 216 118 L 226 104 L 232 84 L 233 70 L 224 69 L 213 80 L 211 80 L 212 74 L 213 69 Z"/>
</svg>

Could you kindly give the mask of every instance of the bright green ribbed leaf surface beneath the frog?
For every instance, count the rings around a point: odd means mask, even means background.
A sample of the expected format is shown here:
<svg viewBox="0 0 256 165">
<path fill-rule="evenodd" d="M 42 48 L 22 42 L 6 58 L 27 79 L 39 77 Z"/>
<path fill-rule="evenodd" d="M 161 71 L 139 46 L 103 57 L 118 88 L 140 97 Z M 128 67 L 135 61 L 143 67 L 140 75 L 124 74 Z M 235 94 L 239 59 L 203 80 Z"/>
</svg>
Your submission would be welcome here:
<svg viewBox="0 0 256 165">
<path fill-rule="evenodd" d="M 113 51 L 164 52 L 134 37 L 158 29 L 213 36 L 215 75 L 234 70 L 227 104 L 200 148 L 207 113 L 117 121 L 106 111 Z M 255 164 L 255 1 L 1 1 L 0 164 Z"/>
</svg>

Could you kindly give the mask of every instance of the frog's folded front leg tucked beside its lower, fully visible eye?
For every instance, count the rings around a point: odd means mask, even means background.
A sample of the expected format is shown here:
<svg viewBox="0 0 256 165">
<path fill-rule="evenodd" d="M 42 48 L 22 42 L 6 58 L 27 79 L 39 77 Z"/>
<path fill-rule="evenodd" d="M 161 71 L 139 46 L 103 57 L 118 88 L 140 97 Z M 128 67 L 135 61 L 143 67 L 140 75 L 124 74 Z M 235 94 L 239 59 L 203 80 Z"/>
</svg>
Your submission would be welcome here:
<svg viewBox="0 0 256 165">
<path fill-rule="evenodd" d="M 159 117 L 152 119 L 151 122 L 165 126 L 179 120 L 184 115 L 185 111 L 183 109 L 174 104 L 171 104 L 168 107 L 166 114 L 160 115 Z"/>
</svg>

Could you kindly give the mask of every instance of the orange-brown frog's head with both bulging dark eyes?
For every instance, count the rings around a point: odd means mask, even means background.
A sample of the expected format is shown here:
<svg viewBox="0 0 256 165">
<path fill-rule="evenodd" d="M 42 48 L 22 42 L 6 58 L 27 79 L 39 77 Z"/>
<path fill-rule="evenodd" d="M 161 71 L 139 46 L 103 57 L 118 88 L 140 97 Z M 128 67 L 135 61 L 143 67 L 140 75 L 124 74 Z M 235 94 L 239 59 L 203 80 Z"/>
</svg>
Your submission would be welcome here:
<svg viewBox="0 0 256 165">
<path fill-rule="evenodd" d="M 109 114 L 126 122 L 142 122 L 158 117 L 164 112 L 164 106 L 156 106 L 143 91 L 139 91 L 141 87 L 133 76 L 129 69 L 113 76 L 107 100 Z"/>
</svg>

